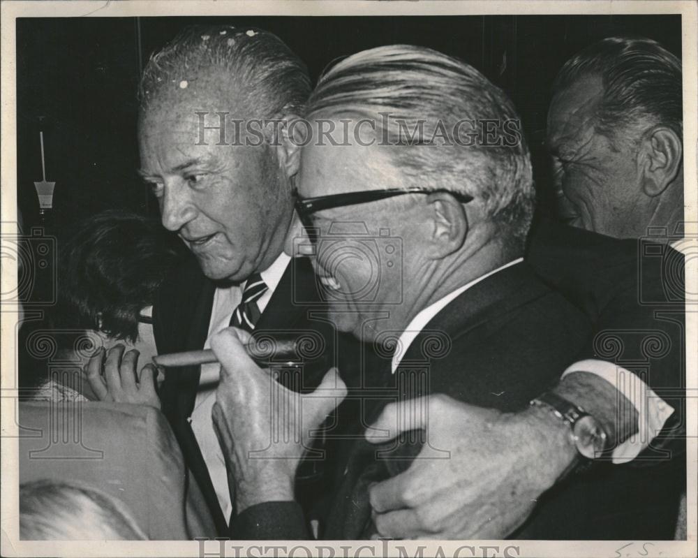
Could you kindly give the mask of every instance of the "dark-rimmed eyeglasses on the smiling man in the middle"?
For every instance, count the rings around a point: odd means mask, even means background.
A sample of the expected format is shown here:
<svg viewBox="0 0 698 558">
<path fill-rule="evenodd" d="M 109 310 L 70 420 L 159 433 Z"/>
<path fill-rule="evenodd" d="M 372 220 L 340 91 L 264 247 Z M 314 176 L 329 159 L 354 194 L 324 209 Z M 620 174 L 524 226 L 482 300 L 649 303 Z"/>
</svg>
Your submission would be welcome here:
<svg viewBox="0 0 698 558">
<path fill-rule="evenodd" d="M 454 192 L 445 189 L 429 190 L 425 188 L 389 188 L 385 190 L 362 190 L 358 192 L 335 193 L 329 196 L 318 196 L 316 198 L 301 198 L 298 195 L 298 189 L 293 189 L 295 196 L 295 207 L 301 223 L 306 229 L 306 234 L 309 240 L 313 243 L 318 240 L 317 229 L 313 226 L 313 221 L 310 218 L 311 214 L 322 211 L 331 210 L 335 207 L 346 207 L 347 205 L 359 205 L 360 203 L 375 202 L 394 198 L 395 196 L 404 196 L 408 193 L 450 193 L 451 196 L 459 200 L 461 203 L 473 201 L 473 196 L 468 196 L 466 193 Z"/>
</svg>

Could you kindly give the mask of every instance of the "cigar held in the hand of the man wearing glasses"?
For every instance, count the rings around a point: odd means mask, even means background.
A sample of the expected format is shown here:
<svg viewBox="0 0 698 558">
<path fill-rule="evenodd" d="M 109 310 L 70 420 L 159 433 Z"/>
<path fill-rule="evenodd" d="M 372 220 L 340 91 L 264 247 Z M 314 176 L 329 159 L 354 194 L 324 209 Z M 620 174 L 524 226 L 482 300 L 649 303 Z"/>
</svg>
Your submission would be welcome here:
<svg viewBox="0 0 698 558">
<path fill-rule="evenodd" d="M 247 354 L 251 356 L 257 365 L 269 367 L 269 365 L 299 366 L 302 364 L 298 355 L 297 339 L 274 339 L 274 342 L 252 340 L 245 345 Z M 166 353 L 155 355 L 153 362 L 165 368 L 177 368 L 183 366 L 205 365 L 210 362 L 218 362 L 214 351 L 207 348 L 203 351 L 183 351 L 181 353 Z"/>
</svg>

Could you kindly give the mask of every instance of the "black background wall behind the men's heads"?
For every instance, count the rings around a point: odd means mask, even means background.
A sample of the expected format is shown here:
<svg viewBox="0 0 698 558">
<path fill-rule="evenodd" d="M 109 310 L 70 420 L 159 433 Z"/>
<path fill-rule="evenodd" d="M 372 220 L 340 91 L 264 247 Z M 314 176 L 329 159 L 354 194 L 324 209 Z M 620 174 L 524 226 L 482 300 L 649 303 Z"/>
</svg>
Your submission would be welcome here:
<svg viewBox="0 0 698 558">
<path fill-rule="evenodd" d="M 466 60 L 513 98 L 533 152 L 540 200 L 549 89 L 566 59 L 600 38 L 655 38 L 681 56 L 681 16 L 104 17 L 17 20 L 17 199 L 25 229 L 43 224 L 60 242 L 68 226 L 122 207 L 157 214 L 140 183 L 135 98 L 149 55 L 192 23 L 274 32 L 315 80 L 337 57 L 411 43 Z M 54 210 L 39 221 L 39 130 Z"/>
</svg>

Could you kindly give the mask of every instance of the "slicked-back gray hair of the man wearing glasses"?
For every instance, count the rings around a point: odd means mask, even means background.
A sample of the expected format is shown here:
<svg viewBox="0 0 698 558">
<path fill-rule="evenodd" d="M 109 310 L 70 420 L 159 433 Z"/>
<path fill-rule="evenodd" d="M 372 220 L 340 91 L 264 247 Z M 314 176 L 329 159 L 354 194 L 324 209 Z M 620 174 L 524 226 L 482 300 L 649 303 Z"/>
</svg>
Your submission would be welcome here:
<svg viewBox="0 0 698 558">
<path fill-rule="evenodd" d="M 377 133 L 400 147 L 389 152 L 406 187 L 469 194 L 507 237 L 526 236 L 535 200 L 530 156 L 523 135 L 507 135 L 503 126 L 510 122 L 520 130 L 519 116 L 503 91 L 472 66 L 413 45 L 364 50 L 320 77 L 306 118 L 320 117 L 378 122 Z M 459 122 L 477 122 L 477 129 L 488 121 L 496 123 L 489 141 L 482 129 L 472 145 L 456 137 Z M 406 127 L 417 130 L 416 137 L 406 138 Z M 435 134 L 438 145 L 428 139 Z"/>
</svg>

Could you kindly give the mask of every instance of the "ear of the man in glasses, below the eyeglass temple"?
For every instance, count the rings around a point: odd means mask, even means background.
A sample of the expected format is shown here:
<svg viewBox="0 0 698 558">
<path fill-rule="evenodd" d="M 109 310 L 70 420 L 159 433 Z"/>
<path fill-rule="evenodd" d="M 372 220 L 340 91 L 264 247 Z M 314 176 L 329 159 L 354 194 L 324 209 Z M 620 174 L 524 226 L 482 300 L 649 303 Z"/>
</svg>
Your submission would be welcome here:
<svg viewBox="0 0 698 558">
<path fill-rule="evenodd" d="M 433 223 L 433 258 L 443 258 L 461 249 L 468 236 L 468 215 L 463 204 L 447 192 L 430 193 L 426 203 Z"/>
</svg>

